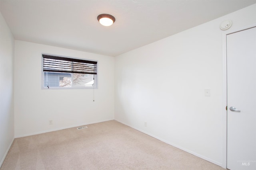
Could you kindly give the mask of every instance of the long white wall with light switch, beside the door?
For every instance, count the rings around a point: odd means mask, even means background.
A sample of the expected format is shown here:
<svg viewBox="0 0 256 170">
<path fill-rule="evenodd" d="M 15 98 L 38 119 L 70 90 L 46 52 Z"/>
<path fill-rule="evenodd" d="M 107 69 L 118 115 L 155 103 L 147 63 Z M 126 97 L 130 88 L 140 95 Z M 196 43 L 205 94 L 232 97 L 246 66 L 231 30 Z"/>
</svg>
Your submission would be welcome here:
<svg viewBox="0 0 256 170">
<path fill-rule="evenodd" d="M 228 19 L 229 32 L 256 23 L 256 4 L 116 57 L 115 119 L 225 167 L 219 25 Z"/>
</svg>

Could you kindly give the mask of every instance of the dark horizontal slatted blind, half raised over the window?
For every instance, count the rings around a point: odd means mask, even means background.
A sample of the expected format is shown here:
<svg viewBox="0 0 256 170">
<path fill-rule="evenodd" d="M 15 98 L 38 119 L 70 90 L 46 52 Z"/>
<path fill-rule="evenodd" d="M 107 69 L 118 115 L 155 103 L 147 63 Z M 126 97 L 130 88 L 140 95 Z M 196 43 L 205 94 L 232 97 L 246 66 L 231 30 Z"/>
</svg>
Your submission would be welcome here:
<svg viewBox="0 0 256 170">
<path fill-rule="evenodd" d="M 43 70 L 47 72 L 71 72 L 97 74 L 97 61 L 87 61 L 51 55 L 42 55 Z"/>
</svg>

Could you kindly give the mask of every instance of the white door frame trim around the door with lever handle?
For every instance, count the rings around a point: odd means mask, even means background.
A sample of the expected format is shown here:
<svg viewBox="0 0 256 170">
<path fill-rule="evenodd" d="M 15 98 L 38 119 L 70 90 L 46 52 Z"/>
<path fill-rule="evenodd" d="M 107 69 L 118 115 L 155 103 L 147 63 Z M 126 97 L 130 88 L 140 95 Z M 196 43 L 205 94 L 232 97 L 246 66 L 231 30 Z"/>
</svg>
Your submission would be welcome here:
<svg viewBox="0 0 256 170">
<path fill-rule="evenodd" d="M 228 111 L 226 110 L 226 106 L 227 106 L 227 41 L 226 41 L 226 37 L 229 34 L 232 33 L 236 33 L 236 32 L 240 32 L 240 31 L 244 31 L 246 29 L 250 29 L 256 27 L 256 23 L 249 25 L 247 27 L 242 27 L 241 29 L 236 29 L 236 30 L 231 30 L 231 31 L 227 31 L 225 33 L 222 33 L 222 82 L 223 82 L 223 86 L 222 86 L 222 90 L 223 90 L 223 96 L 222 96 L 222 168 L 227 168 L 227 115 L 228 115 Z"/>
</svg>

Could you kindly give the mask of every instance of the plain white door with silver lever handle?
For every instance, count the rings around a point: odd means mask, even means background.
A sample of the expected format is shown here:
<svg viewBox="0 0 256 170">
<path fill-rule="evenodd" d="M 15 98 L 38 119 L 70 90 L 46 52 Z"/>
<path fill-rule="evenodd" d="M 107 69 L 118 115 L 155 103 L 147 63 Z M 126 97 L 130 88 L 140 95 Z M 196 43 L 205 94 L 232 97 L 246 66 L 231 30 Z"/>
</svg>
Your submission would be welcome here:
<svg viewBox="0 0 256 170">
<path fill-rule="evenodd" d="M 256 27 L 226 42 L 227 168 L 256 170 Z"/>
</svg>

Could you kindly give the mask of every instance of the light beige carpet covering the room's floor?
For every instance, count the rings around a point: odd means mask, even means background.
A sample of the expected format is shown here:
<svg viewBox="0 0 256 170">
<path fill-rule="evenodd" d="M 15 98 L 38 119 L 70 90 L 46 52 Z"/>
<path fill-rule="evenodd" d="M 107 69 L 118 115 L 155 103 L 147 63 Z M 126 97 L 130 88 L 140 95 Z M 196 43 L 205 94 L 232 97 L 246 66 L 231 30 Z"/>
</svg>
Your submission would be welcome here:
<svg viewBox="0 0 256 170">
<path fill-rule="evenodd" d="M 117 121 L 14 140 L 0 170 L 224 170 Z"/>
</svg>

